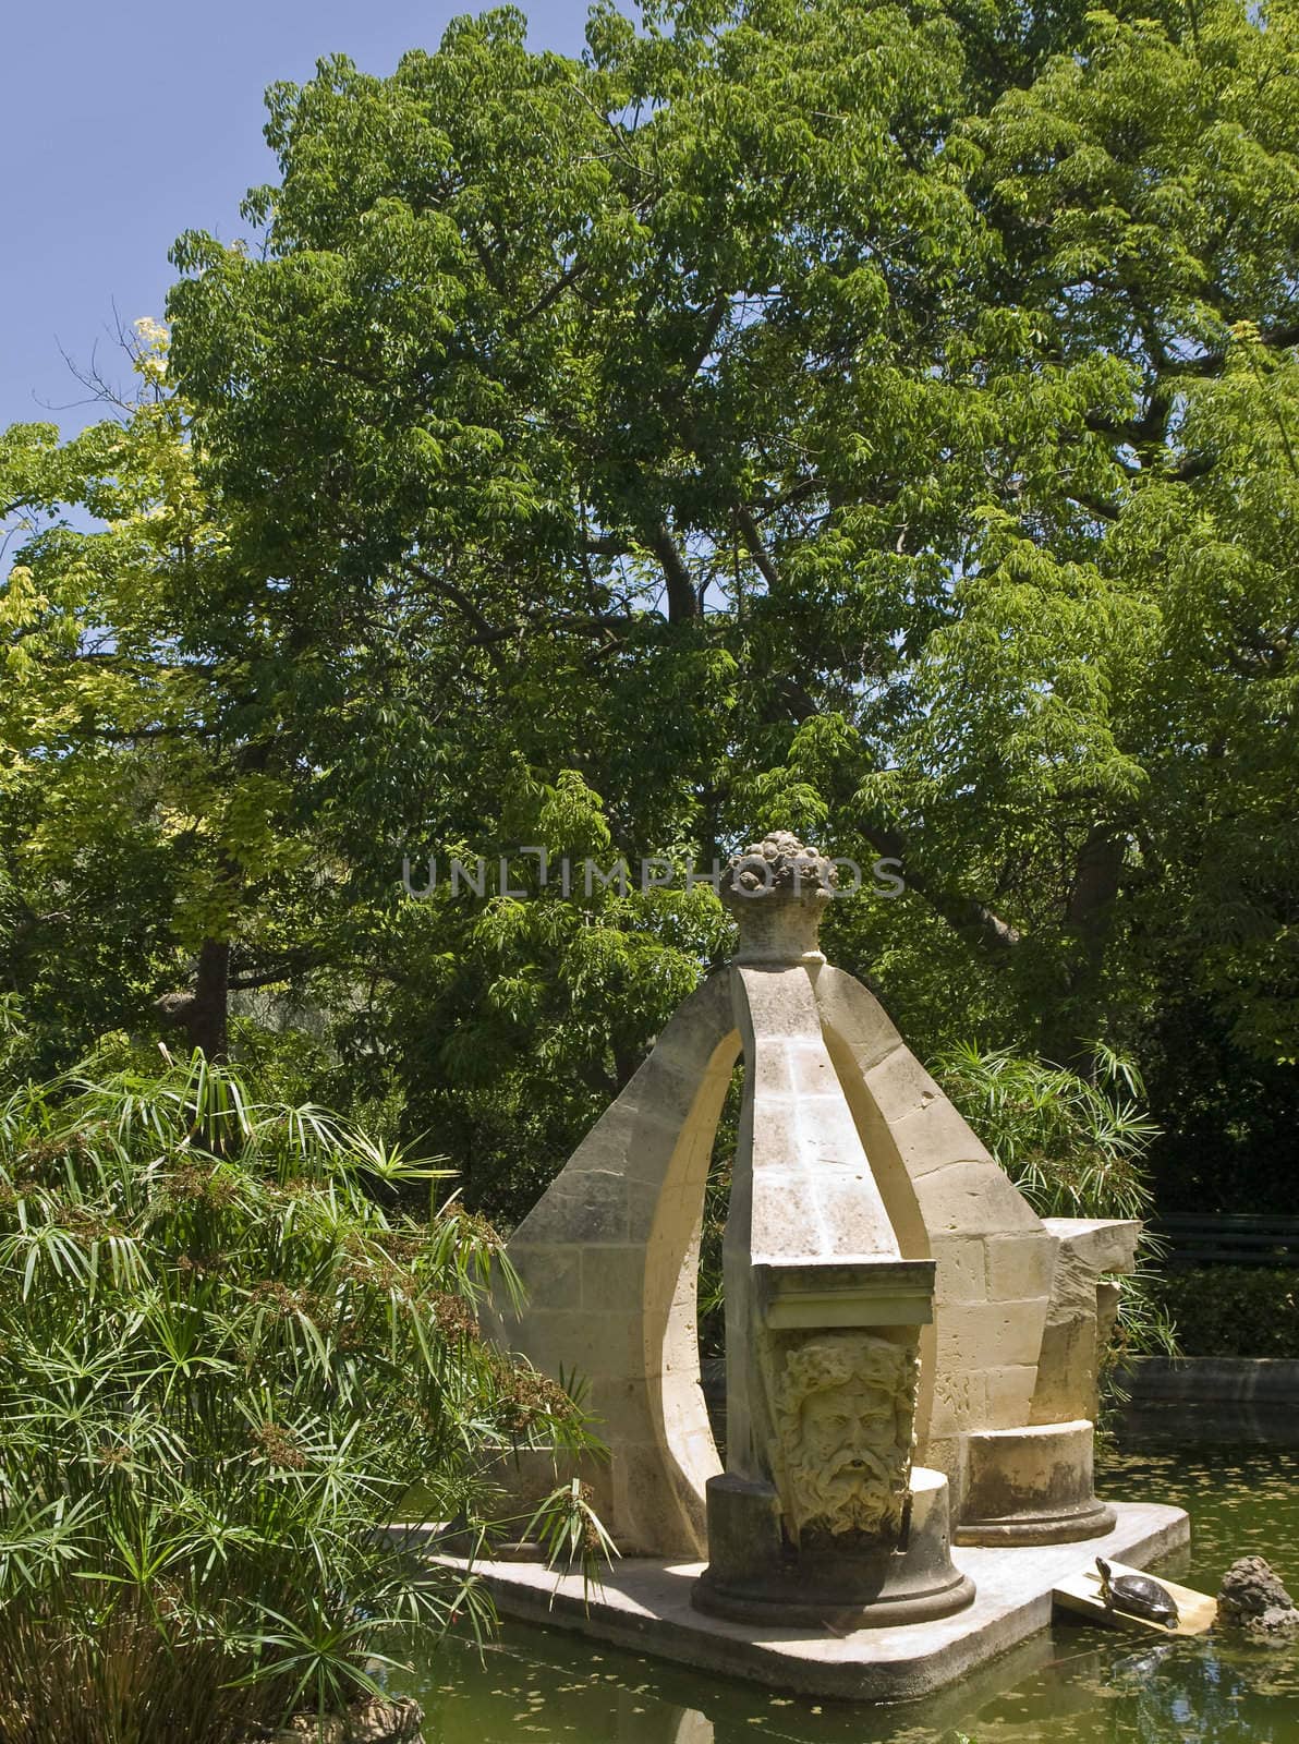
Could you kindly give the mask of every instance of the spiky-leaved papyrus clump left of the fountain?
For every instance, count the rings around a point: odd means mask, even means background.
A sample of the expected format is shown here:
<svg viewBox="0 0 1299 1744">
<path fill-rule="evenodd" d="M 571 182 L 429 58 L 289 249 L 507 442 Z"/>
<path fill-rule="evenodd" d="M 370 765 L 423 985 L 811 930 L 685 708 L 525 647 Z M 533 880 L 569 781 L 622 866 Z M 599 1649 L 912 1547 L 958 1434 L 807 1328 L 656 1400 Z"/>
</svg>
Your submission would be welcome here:
<svg viewBox="0 0 1299 1744">
<path fill-rule="evenodd" d="M 0 1104 L 0 1739 L 228 1744 L 337 1711 L 473 1580 L 384 1536 L 492 1507 L 485 1448 L 584 1444 L 474 1324 L 492 1231 L 438 1175 L 195 1055 Z M 558 1495 L 546 1529 L 584 1521 Z"/>
</svg>

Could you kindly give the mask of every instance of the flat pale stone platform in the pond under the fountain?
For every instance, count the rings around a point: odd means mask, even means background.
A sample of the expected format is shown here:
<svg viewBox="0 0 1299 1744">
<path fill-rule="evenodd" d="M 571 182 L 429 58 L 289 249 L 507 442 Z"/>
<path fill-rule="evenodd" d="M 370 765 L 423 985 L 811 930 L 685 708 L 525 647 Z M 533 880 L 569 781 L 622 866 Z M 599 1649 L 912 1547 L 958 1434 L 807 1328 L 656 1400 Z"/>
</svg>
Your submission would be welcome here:
<svg viewBox="0 0 1299 1744">
<path fill-rule="evenodd" d="M 901 1702 L 966 1676 L 1046 1629 L 1053 1587 L 1097 1556 L 1146 1568 L 1191 1542 L 1182 1509 L 1144 1502 L 1112 1507 L 1114 1528 L 1081 1543 L 954 1549 L 952 1561 L 975 1582 L 973 1604 L 936 1622 L 847 1634 L 706 1617 L 690 1604 L 703 1563 L 628 1557 L 588 1592 L 581 1575 L 556 1575 L 539 1563 L 479 1563 L 478 1573 L 504 1617 L 750 1678 L 772 1690 Z"/>
</svg>

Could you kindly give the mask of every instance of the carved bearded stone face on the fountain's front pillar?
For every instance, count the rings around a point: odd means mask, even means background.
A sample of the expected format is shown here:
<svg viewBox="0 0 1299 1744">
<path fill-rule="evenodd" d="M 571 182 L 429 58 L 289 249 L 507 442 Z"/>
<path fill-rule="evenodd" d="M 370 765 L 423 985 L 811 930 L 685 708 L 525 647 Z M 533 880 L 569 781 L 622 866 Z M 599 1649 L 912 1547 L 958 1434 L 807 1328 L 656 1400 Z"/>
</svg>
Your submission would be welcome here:
<svg viewBox="0 0 1299 1744">
<path fill-rule="evenodd" d="M 867 1332 L 825 1332 L 786 1353 L 779 1427 L 799 1531 L 900 1524 L 915 1381 L 914 1353 Z"/>
</svg>

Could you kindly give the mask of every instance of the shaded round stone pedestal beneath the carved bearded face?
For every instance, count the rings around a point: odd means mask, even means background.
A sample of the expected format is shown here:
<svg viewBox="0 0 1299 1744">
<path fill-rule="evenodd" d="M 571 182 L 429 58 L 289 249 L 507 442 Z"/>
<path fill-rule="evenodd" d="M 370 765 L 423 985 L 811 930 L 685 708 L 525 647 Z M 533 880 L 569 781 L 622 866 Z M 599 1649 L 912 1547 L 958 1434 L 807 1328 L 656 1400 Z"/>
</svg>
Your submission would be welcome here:
<svg viewBox="0 0 1299 1744">
<path fill-rule="evenodd" d="M 964 1610 L 975 1584 L 952 1566 L 947 1479 L 912 1467 L 900 1542 L 781 1533 L 774 1486 L 743 1477 L 708 1482 L 710 1563 L 690 1601 L 710 1617 L 760 1624 L 886 1629 Z"/>
</svg>

